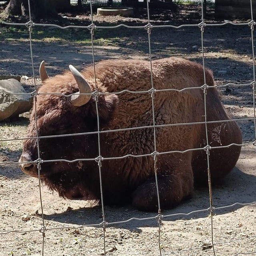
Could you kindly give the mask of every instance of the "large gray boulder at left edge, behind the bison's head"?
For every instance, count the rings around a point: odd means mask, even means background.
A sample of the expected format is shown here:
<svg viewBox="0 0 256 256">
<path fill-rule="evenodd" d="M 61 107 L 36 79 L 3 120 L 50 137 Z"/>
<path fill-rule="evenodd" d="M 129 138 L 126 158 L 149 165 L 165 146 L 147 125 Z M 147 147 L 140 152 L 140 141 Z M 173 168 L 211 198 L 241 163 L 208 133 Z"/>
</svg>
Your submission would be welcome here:
<svg viewBox="0 0 256 256">
<path fill-rule="evenodd" d="M 16 79 L 0 80 L 0 91 L 26 93 L 22 84 Z M 32 96 L 26 94 L 8 94 L 0 92 L 0 121 L 18 116 L 32 108 Z"/>
</svg>

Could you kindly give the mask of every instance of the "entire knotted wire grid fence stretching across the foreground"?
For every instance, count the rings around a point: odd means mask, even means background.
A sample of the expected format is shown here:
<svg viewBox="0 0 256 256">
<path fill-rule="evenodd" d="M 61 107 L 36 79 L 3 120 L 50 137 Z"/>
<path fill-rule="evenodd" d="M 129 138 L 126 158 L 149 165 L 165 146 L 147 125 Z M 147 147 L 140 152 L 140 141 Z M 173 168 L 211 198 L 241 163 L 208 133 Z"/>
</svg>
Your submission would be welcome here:
<svg viewBox="0 0 256 256">
<path fill-rule="evenodd" d="M 32 52 L 32 28 L 34 26 L 52 26 L 52 27 L 57 27 L 60 29 L 66 29 L 66 28 L 88 28 L 88 30 L 90 30 L 91 33 L 91 43 L 92 43 L 92 62 L 93 62 L 93 66 L 94 66 L 94 82 L 95 82 L 95 91 L 92 92 L 90 95 L 92 95 L 92 97 L 95 100 L 95 104 L 96 104 L 96 112 L 97 112 L 97 124 L 98 124 L 98 131 L 97 132 L 84 132 L 84 133 L 79 133 L 79 134 L 64 134 L 64 135 L 55 135 L 55 136 L 38 136 L 38 126 L 37 126 L 37 122 L 36 122 L 36 136 L 35 137 L 30 137 L 30 139 L 35 139 L 37 142 L 37 147 L 38 147 L 38 159 L 35 160 L 33 163 L 35 163 L 37 165 L 38 168 L 38 181 L 39 181 L 39 195 L 40 195 L 40 205 L 41 205 L 41 211 L 42 211 L 42 226 L 38 229 L 34 229 L 34 230 L 1 230 L 0 231 L 0 235 L 4 235 L 4 234 L 8 234 L 8 233 L 24 233 L 24 232 L 41 232 L 42 233 L 42 256 L 44 256 L 44 238 L 46 236 L 46 232 L 47 230 L 58 230 L 58 229 L 78 229 L 78 228 L 83 228 L 83 227 L 88 227 L 88 226 L 93 226 L 93 227 L 100 227 L 103 230 L 103 238 L 104 238 L 104 255 L 106 255 L 106 243 L 105 243 L 105 232 L 106 232 L 106 228 L 108 226 L 114 226 L 116 224 L 120 224 L 120 223 L 125 223 L 125 222 L 130 222 L 132 220 L 156 220 L 158 223 L 158 246 L 159 246 L 159 254 L 160 256 L 162 255 L 161 252 L 161 246 L 160 246 L 160 234 L 161 234 L 161 224 L 162 224 L 162 220 L 164 218 L 170 218 L 170 217 L 174 217 L 174 216 L 188 216 L 190 214 L 193 213 L 199 213 L 199 212 L 210 212 L 210 217 L 211 217 L 211 237 L 212 237 L 212 250 L 213 250 L 213 254 L 215 256 L 215 250 L 214 250 L 214 245 L 216 244 L 222 244 L 222 243 L 226 243 L 229 241 L 225 241 L 225 242 L 220 242 L 220 243 L 214 243 L 214 232 L 213 232 L 213 214 L 214 212 L 216 212 L 216 210 L 220 210 L 220 209 L 224 209 L 224 208 L 228 208 L 228 207 L 233 207 L 233 206 L 245 206 L 245 205 L 250 205 L 250 204 L 255 204 L 256 202 L 250 202 L 250 203 L 240 203 L 240 202 L 236 202 L 232 205 L 229 206 L 222 206 L 222 207 L 214 207 L 214 202 L 212 199 L 212 188 L 211 188 L 211 179 L 210 179 L 210 164 L 209 164 L 209 159 L 210 159 L 210 150 L 215 149 L 215 148 L 227 148 L 233 145 L 236 146 L 246 146 L 246 145 L 254 145 L 256 146 L 256 111 L 255 111 L 255 91 L 256 91 L 256 81 L 255 81 L 255 60 L 254 60 L 254 39 L 253 39 L 253 31 L 254 31 L 254 26 L 256 25 L 256 22 L 254 22 L 253 19 L 253 12 L 252 12 L 252 0 L 250 0 L 250 5 L 251 5 L 251 21 L 250 22 L 245 22 L 245 23 L 234 23 L 234 22 L 223 22 L 223 23 L 218 23 L 218 24 L 210 24 L 210 23 L 206 23 L 204 21 L 204 13 L 203 13 L 203 0 L 202 0 L 202 21 L 199 24 L 183 24 L 180 26 L 173 26 L 173 25 L 158 25 L 158 26 L 153 26 L 150 23 L 150 12 L 149 12 L 149 4 L 147 1 L 147 14 L 148 14 L 148 24 L 146 24 L 145 26 L 127 26 L 125 24 L 120 24 L 117 26 L 95 26 L 94 22 L 93 22 L 93 13 L 92 13 L 92 2 L 90 2 L 90 10 L 91 10 L 91 24 L 90 26 L 58 26 L 56 24 L 36 24 L 32 21 L 31 18 L 31 11 L 30 11 L 30 0 L 28 0 L 28 6 L 29 6 L 29 18 L 30 20 L 26 23 L 9 23 L 9 22 L 4 22 L 2 20 L 0 20 L 0 22 L 2 24 L 6 24 L 6 25 L 10 25 L 10 26 L 26 26 L 29 30 L 29 38 L 30 38 L 30 54 L 31 54 L 31 62 L 32 62 L 32 70 L 33 70 L 33 78 L 34 78 L 34 92 L 32 92 L 32 96 L 34 97 L 34 106 L 35 106 L 35 120 L 37 121 L 37 113 L 36 113 L 36 98 L 39 94 L 47 94 L 47 93 L 39 93 L 37 88 L 36 88 L 36 79 L 35 79 L 35 74 L 34 74 L 34 62 L 33 62 L 33 52 Z M 208 86 L 206 84 L 206 74 L 205 74 L 205 66 L 204 66 L 204 39 L 203 39 L 203 35 L 204 35 L 204 29 L 208 26 L 224 26 L 226 24 L 232 24 L 235 26 L 249 26 L 251 29 L 251 34 L 252 34 L 252 58 L 253 58 L 253 80 L 251 83 L 248 84 L 234 84 L 234 83 L 228 83 L 228 84 L 224 84 L 224 85 L 214 85 L 214 86 Z M 149 49 L 149 59 L 150 59 L 150 70 L 151 70 L 151 88 L 149 88 L 147 91 L 131 91 L 131 90 L 122 90 L 120 92 L 112 92 L 112 93 L 101 93 L 98 90 L 98 86 L 97 86 L 97 80 L 96 80 L 96 70 L 95 70 L 95 61 L 94 61 L 94 32 L 97 30 L 97 28 L 103 28 L 103 29 L 114 29 L 114 28 L 118 28 L 120 26 L 124 26 L 126 28 L 134 28 L 134 29 L 146 29 L 148 32 L 148 49 Z M 203 62 L 203 70 L 204 70 L 204 84 L 203 85 L 198 85 L 198 87 L 188 87 L 188 88 L 184 88 L 182 90 L 177 90 L 177 89 L 173 89 L 173 88 L 169 88 L 169 89 L 162 89 L 162 90 L 157 90 L 154 88 L 154 80 L 153 80 L 153 76 L 152 76 L 152 57 L 151 57 L 151 44 L 150 44 L 150 34 L 153 28 L 168 28 L 168 27 L 172 27 L 172 28 L 181 28 L 181 27 L 198 27 L 201 30 L 201 44 L 202 44 L 202 62 Z M 206 100 L 207 100 L 207 90 L 208 88 L 218 88 L 218 87 L 225 87 L 225 86 L 251 86 L 252 87 L 252 92 L 253 92 L 253 108 L 254 108 L 254 117 L 253 118 L 236 118 L 236 119 L 232 119 L 232 120 L 216 120 L 216 121 L 207 121 L 207 115 L 206 115 Z M 182 92 L 184 90 L 192 90 L 192 89 L 197 89 L 197 90 L 203 90 L 204 91 L 204 114 L 205 114 L 205 121 L 204 122 L 192 122 L 192 123 L 177 123 L 177 124 L 164 124 L 164 125 L 157 125 L 155 123 L 155 116 L 154 116 L 154 97 L 157 94 L 157 92 L 160 91 L 177 91 L 177 92 Z M 146 94 L 149 93 L 152 99 L 152 120 L 153 120 L 153 125 L 151 126 L 141 126 L 141 127 L 131 127 L 131 128 L 124 128 L 124 129 L 116 129 L 116 130 L 108 130 L 108 131 L 101 131 L 100 130 L 100 122 L 99 122 L 99 111 L 98 111 L 98 97 L 100 96 L 100 94 L 122 94 L 122 93 L 133 93 L 133 94 Z M 6 92 L 6 91 L 0 91 L 0 93 L 6 93 L 6 94 L 18 94 L 18 93 L 10 93 L 10 92 Z M 21 93 L 19 93 L 21 94 Z M 26 94 L 26 93 L 24 93 Z M 58 95 L 62 95 L 64 97 L 70 97 L 73 94 L 70 95 L 64 95 L 64 94 L 60 94 L 60 93 L 51 93 L 51 94 L 58 94 Z M 211 147 L 209 145 L 208 142 L 208 124 L 210 123 L 217 123 L 217 122 L 230 122 L 230 121 L 243 121 L 243 120 L 254 120 L 254 133 L 255 133 L 255 140 L 253 142 L 249 142 L 249 143 L 242 143 L 242 144 L 236 144 L 236 143 L 232 143 L 230 145 L 227 146 L 216 146 L 216 147 Z M 158 127 L 167 127 L 167 126 L 181 126 L 181 125 L 196 125 L 196 124 L 205 124 L 205 130 L 206 130 L 206 145 L 202 148 L 191 148 L 188 150 L 184 150 L 184 151 L 178 151 L 178 150 L 174 150 L 174 151 L 169 151 L 169 152 L 158 152 L 157 148 L 156 148 L 156 128 Z M 105 133 L 105 132 L 116 132 L 116 131 L 124 131 L 124 130 L 136 130 L 136 129 L 145 129 L 145 128 L 153 128 L 154 131 L 154 152 L 148 152 L 148 154 L 141 154 L 141 155 L 133 155 L 133 154 L 128 154 L 122 157 L 108 157 L 108 158 L 103 158 L 101 156 L 101 151 L 100 151 L 100 134 Z M 44 139 L 44 138 L 54 138 L 54 137 L 66 137 L 66 136 L 78 136 L 78 135 L 87 135 L 87 134 L 98 134 L 98 157 L 97 158 L 82 158 L 82 159 L 74 159 L 74 160 L 66 160 L 66 159 L 55 159 L 55 160 L 43 160 L 40 157 L 40 143 L 39 143 L 39 139 Z M 26 140 L 28 138 L 11 138 L 11 139 L 1 139 L 0 142 L 4 142 L 4 141 L 13 141 L 13 140 Z M 158 190 L 158 179 L 157 179 L 157 157 L 159 155 L 162 154 L 171 154 L 171 153 L 186 153 L 188 151 L 194 151 L 194 150 L 204 150 L 206 152 L 207 155 L 207 164 L 208 164 L 208 184 L 209 184 L 209 197 L 210 197 L 210 206 L 207 209 L 202 209 L 202 210 L 195 210 L 189 213 L 178 213 L 178 214 L 168 214 L 168 215 L 163 215 L 161 212 L 161 205 L 160 205 L 160 198 L 159 198 L 159 190 Z M 101 179 L 101 163 L 104 160 L 115 160 L 115 159 L 122 159 L 122 158 L 127 158 L 127 157 L 134 157 L 134 158 L 140 158 L 140 157 L 144 157 L 144 156 L 152 156 L 154 158 L 154 170 L 155 170 L 155 177 L 156 177 L 156 190 L 157 190 L 157 194 L 158 194 L 158 214 L 152 217 L 148 217 L 148 218 L 130 218 L 128 220 L 124 220 L 124 221 L 117 221 L 117 222 L 107 222 L 106 217 L 105 217 L 105 212 L 104 212 L 104 191 L 102 190 L 102 179 Z M 40 170 L 41 170 L 41 165 L 44 162 L 59 162 L 59 161 L 64 161 L 64 162 L 78 162 L 78 161 L 96 161 L 98 163 L 98 168 L 99 168 L 99 175 L 100 175 L 100 190 L 101 190 L 101 202 L 102 202 L 102 222 L 98 223 L 98 224 L 86 224 L 86 225 L 80 225 L 80 226 L 62 226 L 62 227 L 55 227 L 55 228 L 48 228 L 45 225 L 44 222 L 44 213 L 43 213 L 43 206 L 42 206 L 42 195 L 41 195 L 41 182 L 40 182 Z M 0 164 L 5 164 L 5 163 L 13 163 L 13 164 L 19 164 L 18 162 L 14 162 L 14 161 L 3 161 L 0 162 Z M 30 163 L 30 162 L 22 162 L 22 163 Z M 251 237 L 256 237 L 256 236 L 251 236 Z M 242 240 L 245 238 L 238 238 L 238 239 L 234 239 L 234 240 Z M 190 251 L 190 250 L 194 250 L 197 248 L 189 248 L 187 250 L 180 250 L 178 252 L 182 252 L 182 251 Z M 173 252 L 172 252 L 173 253 Z M 248 253 L 244 253 L 244 252 L 238 252 L 236 255 L 239 254 L 254 254 L 256 252 L 248 252 Z"/>
</svg>

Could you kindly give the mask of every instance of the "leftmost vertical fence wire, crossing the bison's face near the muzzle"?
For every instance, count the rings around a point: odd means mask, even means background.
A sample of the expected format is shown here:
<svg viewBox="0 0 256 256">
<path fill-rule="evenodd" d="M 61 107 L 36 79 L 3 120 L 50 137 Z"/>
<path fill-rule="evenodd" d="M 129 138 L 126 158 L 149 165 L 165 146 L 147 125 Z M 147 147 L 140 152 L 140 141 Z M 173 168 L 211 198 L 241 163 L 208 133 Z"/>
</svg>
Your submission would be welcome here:
<svg viewBox="0 0 256 256">
<path fill-rule="evenodd" d="M 40 179 L 40 170 L 41 170 L 41 163 L 42 160 L 40 158 L 40 148 L 39 148 L 39 138 L 38 138 L 38 124 L 37 124 L 37 114 L 36 114 L 36 100 L 37 100 L 37 88 L 36 88 L 36 78 L 35 78 L 35 71 L 34 71 L 34 60 L 33 60 L 33 50 L 32 50 L 32 27 L 34 26 L 32 22 L 31 16 L 31 7 L 30 7 L 30 0 L 28 0 L 28 12 L 29 12 L 29 42 L 30 42 L 30 54 L 31 54 L 31 64 L 32 64 L 32 71 L 33 71 L 33 79 L 34 79 L 34 106 L 35 106 L 35 124 L 36 124 L 36 143 L 37 143 L 37 150 L 38 150 L 38 160 L 36 160 L 37 168 L 38 168 L 38 185 L 39 185 L 39 197 L 40 197 L 40 207 L 42 212 L 42 228 L 40 228 L 40 232 L 42 233 L 42 256 L 44 256 L 44 238 L 45 238 L 45 231 L 46 226 L 44 223 L 44 211 L 43 211 L 43 204 L 42 204 L 42 193 L 41 193 L 41 179 Z"/>
</svg>

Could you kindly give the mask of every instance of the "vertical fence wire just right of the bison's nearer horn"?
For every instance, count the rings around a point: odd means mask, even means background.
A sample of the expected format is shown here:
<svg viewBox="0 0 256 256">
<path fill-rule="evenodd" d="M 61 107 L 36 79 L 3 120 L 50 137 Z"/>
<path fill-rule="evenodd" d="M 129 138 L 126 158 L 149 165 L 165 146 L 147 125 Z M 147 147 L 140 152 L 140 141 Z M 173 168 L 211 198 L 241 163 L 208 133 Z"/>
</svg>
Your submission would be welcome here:
<svg viewBox="0 0 256 256">
<path fill-rule="evenodd" d="M 96 69 L 95 69 L 95 60 L 94 60 L 94 23 L 93 23 L 93 12 L 92 12 L 92 1 L 90 1 L 90 11 L 91 11 L 91 22 L 92 24 L 89 26 L 89 30 L 91 31 L 91 42 L 92 42 L 92 62 L 94 68 L 94 82 L 95 82 L 95 105 L 96 105 L 96 113 L 97 113 L 97 128 L 98 128 L 98 157 L 95 159 L 99 166 L 99 176 L 100 176 L 100 196 L 101 196 L 101 205 L 102 205 L 102 230 L 103 230 L 103 243 L 104 243 L 104 256 L 106 256 L 106 218 L 104 212 L 104 202 L 103 202 L 103 189 L 102 189 L 102 173 L 101 173 L 101 161 L 103 160 L 100 152 L 100 118 L 99 118 L 99 110 L 98 110 L 98 96 L 99 90 L 97 86 L 97 79 L 96 79 Z"/>
</svg>

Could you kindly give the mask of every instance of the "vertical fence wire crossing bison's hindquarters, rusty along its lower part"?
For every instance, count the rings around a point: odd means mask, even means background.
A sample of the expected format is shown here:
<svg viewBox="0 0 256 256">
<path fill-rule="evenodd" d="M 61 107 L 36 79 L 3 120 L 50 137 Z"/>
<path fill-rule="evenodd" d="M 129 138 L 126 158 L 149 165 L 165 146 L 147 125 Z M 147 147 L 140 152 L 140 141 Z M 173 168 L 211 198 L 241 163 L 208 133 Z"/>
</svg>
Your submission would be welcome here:
<svg viewBox="0 0 256 256">
<path fill-rule="evenodd" d="M 204 23 L 204 2 L 201 0 L 201 8 L 202 8 L 202 22 L 200 23 L 201 28 L 201 44 L 202 44 L 202 61 L 203 61 L 203 71 L 204 71 L 204 120 L 205 120 L 205 131 L 206 131 L 206 156 L 207 156 L 207 172 L 208 172 L 208 185 L 209 185 L 209 195 L 210 195 L 210 216 L 211 216 L 211 237 L 212 237 L 212 250 L 215 256 L 214 249 L 214 241 L 213 241 L 213 201 L 212 201 L 212 184 L 211 184 L 211 174 L 210 174 L 210 145 L 208 139 L 208 127 L 207 127 L 207 107 L 206 107 L 206 96 L 207 96 L 207 88 L 208 85 L 206 83 L 206 74 L 205 74 L 205 65 L 204 65 L 204 27 L 206 24 Z"/>
</svg>

